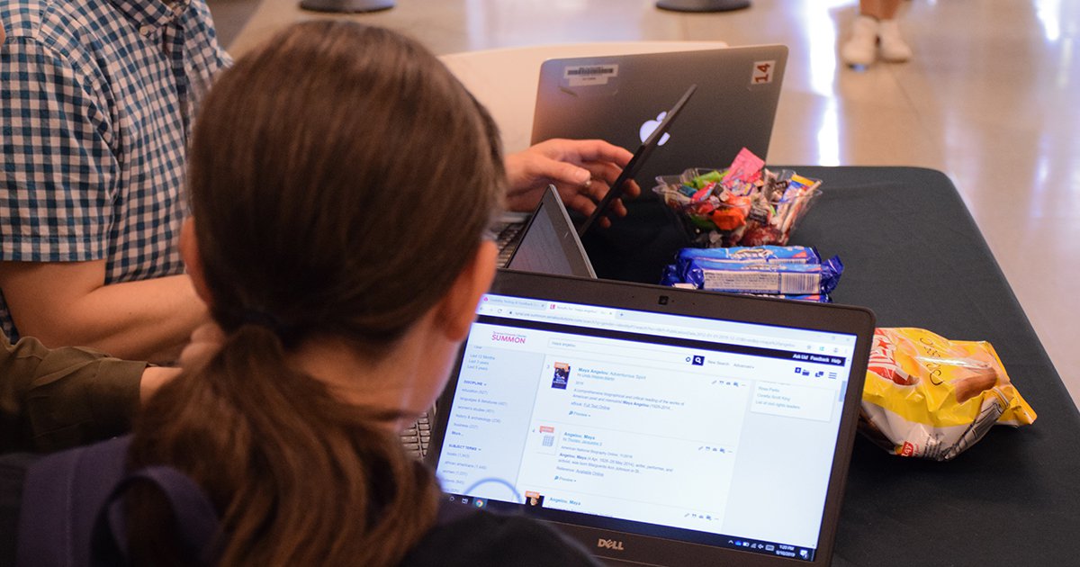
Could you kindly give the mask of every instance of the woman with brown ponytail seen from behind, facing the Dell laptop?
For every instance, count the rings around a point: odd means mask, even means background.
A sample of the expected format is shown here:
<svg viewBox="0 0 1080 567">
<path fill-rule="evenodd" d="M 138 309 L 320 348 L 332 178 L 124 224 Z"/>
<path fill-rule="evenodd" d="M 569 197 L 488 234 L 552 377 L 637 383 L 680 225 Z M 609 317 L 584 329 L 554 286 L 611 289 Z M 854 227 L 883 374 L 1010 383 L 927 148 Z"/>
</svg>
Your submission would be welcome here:
<svg viewBox="0 0 1080 567">
<path fill-rule="evenodd" d="M 89 527 L 23 518 L 19 562 L 85 538 L 70 563 L 592 564 L 525 518 L 441 514 L 396 434 L 490 284 L 505 189 L 490 118 L 434 56 L 379 28 L 294 26 L 224 72 L 188 166 L 181 246 L 214 347 L 108 449 L 121 464 L 87 473 L 127 475 Z"/>
</svg>

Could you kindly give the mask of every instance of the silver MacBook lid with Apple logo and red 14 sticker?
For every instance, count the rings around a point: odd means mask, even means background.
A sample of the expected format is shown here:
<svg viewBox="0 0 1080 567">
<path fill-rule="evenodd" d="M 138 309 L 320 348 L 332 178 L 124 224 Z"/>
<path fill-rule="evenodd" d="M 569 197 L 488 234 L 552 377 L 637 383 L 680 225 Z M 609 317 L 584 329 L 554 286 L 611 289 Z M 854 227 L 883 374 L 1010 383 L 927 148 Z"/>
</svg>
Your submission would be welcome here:
<svg viewBox="0 0 1080 567">
<path fill-rule="evenodd" d="M 727 167 L 743 147 L 766 159 L 787 63 L 784 45 L 549 59 L 540 67 L 532 144 L 600 138 L 638 147 L 688 84 L 698 92 L 635 176 Z"/>
</svg>

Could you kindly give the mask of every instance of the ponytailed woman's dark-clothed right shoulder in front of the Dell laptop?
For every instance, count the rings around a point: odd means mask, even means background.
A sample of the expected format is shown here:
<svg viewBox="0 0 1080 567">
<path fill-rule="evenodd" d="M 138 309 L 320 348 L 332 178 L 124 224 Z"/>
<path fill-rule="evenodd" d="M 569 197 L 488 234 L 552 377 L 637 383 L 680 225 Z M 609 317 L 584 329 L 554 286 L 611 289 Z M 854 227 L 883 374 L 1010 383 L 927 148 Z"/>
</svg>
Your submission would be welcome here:
<svg viewBox="0 0 1080 567">
<path fill-rule="evenodd" d="M 440 522 L 402 562 L 426 566 L 577 567 L 599 565 L 578 543 L 540 522 L 487 511 Z"/>
</svg>

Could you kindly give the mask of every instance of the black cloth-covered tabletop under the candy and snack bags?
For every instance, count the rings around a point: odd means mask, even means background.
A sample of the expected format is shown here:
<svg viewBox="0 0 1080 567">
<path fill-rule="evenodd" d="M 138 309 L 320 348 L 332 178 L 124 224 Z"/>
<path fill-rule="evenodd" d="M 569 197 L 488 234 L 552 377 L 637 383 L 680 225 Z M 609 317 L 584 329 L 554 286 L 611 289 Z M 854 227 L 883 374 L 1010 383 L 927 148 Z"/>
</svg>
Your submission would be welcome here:
<svg viewBox="0 0 1080 567">
<path fill-rule="evenodd" d="M 916 167 L 793 168 L 824 181 L 791 244 L 841 257 L 834 300 L 882 327 L 989 341 L 1038 414 L 949 462 L 856 438 L 834 565 L 1080 565 L 1080 413 L 953 183 Z M 651 201 L 585 244 L 602 278 L 656 283 L 685 239 Z"/>
</svg>

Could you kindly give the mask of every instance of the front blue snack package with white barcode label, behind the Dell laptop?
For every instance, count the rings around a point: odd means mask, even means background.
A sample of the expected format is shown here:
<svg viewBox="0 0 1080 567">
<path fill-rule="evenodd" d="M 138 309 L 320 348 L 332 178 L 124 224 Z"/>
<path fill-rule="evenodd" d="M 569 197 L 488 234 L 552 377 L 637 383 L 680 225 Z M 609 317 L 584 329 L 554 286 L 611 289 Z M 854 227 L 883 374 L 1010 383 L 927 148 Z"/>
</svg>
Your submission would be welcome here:
<svg viewBox="0 0 1080 567">
<path fill-rule="evenodd" d="M 701 289 L 750 294 L 816 295 L 836 288 L 843 273 L 839 256 L 814 264 L 732 264 L 691 258 L 683 281 Z"/>
</svg>

